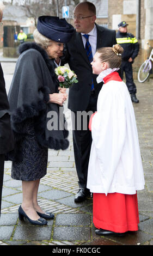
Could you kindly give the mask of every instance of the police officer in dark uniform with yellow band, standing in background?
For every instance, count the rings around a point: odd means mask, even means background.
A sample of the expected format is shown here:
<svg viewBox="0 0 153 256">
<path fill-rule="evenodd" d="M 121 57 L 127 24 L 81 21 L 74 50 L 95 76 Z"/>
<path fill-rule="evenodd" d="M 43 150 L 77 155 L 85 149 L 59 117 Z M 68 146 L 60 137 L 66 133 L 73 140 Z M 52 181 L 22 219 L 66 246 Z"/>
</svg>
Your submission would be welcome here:
<svg viewBox="0 0 153 256">
<path fill-rule="evenodd" d="M 134 84 L 133 81 L 132 63 L 134 62 L 134 58 L 138 55 L 139 43 L 134 35 L 127 33 L 127 26 L 128 24 L 125 21 L 118 24 L 119 30 L 117 32 L 117 43 L 124 48 L 121 63 L 122 75 L 125 72 L 126 85 L 128 92 L 131 95 L 132 102 L 138 103 L 139 100 L 136 97 L 136 84 Z"/>
</svg>

